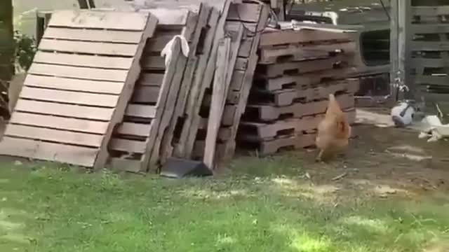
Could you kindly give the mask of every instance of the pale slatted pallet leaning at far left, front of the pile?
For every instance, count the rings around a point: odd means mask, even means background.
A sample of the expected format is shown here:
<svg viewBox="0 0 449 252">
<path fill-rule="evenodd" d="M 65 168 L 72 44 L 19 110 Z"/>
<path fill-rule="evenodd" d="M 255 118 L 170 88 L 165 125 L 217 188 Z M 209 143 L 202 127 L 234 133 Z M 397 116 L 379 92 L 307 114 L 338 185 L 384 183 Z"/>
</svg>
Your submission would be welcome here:
<svg viewBox="0 0 449 252">
<path fill-rule="evenodd" d="M 55 11 L 0 155 L 104 167 L 156 23 L 150 13 Z"/>
</svg>

